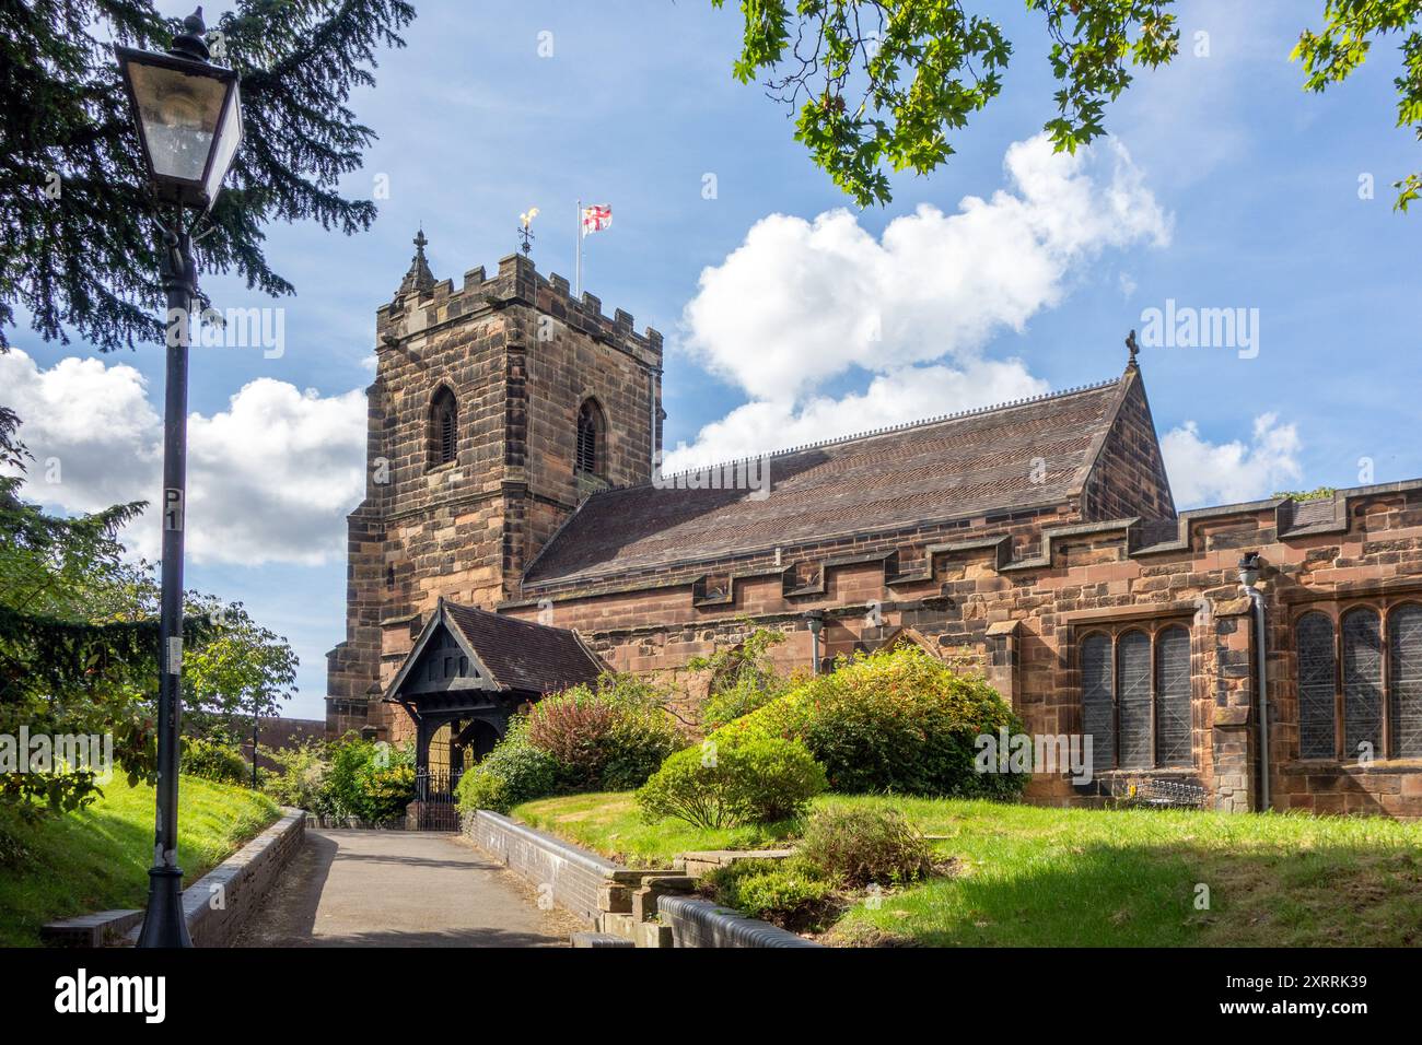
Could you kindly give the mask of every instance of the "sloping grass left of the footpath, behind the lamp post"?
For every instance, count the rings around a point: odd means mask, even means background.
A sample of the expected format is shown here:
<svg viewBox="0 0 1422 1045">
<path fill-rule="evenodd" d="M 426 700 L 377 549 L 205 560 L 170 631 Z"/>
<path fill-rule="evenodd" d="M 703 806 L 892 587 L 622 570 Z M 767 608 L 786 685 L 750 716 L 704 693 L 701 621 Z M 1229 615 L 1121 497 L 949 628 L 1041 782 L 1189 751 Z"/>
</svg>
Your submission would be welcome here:
<svg viewBox="0 0 1422 1045">
<path fill-rule="evenodd" d="M 245 788 L 183 776 L 178 795 L 185 886 L 277 818 L 272 799 Z M 154 863 L 151 786 L 129 788 L 115 773 L 92 805 L 20 825 L 17 833 L 27 859 L 0 867 L 0 945 L 37 945 L 46 921 L 146 903 Z"/>
</svg>

